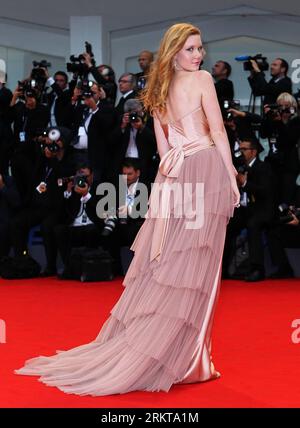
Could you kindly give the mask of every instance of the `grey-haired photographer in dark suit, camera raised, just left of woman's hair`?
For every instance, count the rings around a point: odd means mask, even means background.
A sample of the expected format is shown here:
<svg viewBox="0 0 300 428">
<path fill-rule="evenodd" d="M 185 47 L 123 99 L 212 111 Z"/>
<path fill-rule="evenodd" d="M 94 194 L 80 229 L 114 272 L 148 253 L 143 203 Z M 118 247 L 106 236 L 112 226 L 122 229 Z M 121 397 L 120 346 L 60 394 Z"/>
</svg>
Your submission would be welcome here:
<svg viewBox="0 0 300 428">
<path fill-rule="evenodd" d="M 156 154 L 154 133 L 144 123 L 144 110 L 137 99 L 127 100 L 122 122 L 112 132 L 109 141 L 110 180 L 117 182 L 125 158 L 138 158 L 141 164 L 140 181 L 152 180 L 152 160 Z"/>
</svg>

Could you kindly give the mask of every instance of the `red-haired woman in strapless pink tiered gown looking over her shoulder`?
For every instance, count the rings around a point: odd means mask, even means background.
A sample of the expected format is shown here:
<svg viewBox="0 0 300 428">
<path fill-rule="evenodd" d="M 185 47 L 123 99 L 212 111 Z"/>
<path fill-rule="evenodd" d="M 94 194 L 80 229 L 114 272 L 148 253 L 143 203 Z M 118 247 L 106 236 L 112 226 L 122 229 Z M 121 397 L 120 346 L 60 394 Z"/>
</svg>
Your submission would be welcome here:
<svg viewBox="0 0 300 428">
<path fill-rule="evenodd" d="M 169 28 L 143 95 L 161 162 L 110 317 L 93 342 L 28 360 L 17 374 L 94 396 L 169 391 L 220 376 L 211 330 L 226 225 L 239 191 L 213 80 L 199 71 L 202 57 L 198 28 Z M 194 186 L 187 198 L 168 193 L 168 186 L 186 183 Z"/>
</svg>

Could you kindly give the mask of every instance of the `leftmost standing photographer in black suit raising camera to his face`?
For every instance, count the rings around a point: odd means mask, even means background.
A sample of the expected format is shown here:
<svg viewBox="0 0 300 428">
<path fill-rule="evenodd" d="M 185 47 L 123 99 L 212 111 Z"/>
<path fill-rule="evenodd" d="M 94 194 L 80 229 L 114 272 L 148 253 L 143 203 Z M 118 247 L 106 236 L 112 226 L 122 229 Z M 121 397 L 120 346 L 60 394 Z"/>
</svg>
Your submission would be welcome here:
<svg viewBox="0 0 300 428">
<path fill-rule="evenodd" d="M 38 156 L 36 140 L 39 132 L 47 128 L 50 112 L 48 107 L 40 104 L 38 91 L 32 87 L 31 81 L 23 81 L 13 93 L 8 116 L 14 134 L 12 175 L 23 198 L 28 192 Z"/>
</svg>

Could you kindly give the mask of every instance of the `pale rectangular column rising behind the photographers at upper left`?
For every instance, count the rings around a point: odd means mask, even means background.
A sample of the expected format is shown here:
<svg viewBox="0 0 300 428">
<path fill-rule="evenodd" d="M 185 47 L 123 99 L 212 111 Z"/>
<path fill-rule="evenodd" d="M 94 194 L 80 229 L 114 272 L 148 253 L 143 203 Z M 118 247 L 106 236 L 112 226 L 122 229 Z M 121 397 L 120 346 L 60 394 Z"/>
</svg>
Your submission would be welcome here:
<svg viewBox="0 0 300 428">
<path fill-rule="evenodd" d="M 85 42 L 93 46 L 96 64 L 103 63 L 103 24 L 101 16 L 70 17 L 70 54 L 85 51 Z"/>
</svg>

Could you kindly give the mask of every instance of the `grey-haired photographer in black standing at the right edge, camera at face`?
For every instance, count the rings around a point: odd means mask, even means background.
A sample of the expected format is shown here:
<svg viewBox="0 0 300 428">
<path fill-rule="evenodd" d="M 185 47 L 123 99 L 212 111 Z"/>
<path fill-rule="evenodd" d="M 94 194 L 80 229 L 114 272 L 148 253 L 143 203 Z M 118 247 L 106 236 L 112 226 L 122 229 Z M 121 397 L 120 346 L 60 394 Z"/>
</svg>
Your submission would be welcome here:
<svg viewBox="0 0 300 428">
<path fill-rule="evenodd" d="M 297 102 L 288 93 L 281 94 L 275 105 L 266 105 L 261 135 L 269 140 L 265 159 L 273 170 L 277 188 L 277 205 L 292 205 L 296 180 L 300 171 L 297 144 L 300 139 L 300 118 Z"/>
</svg>

